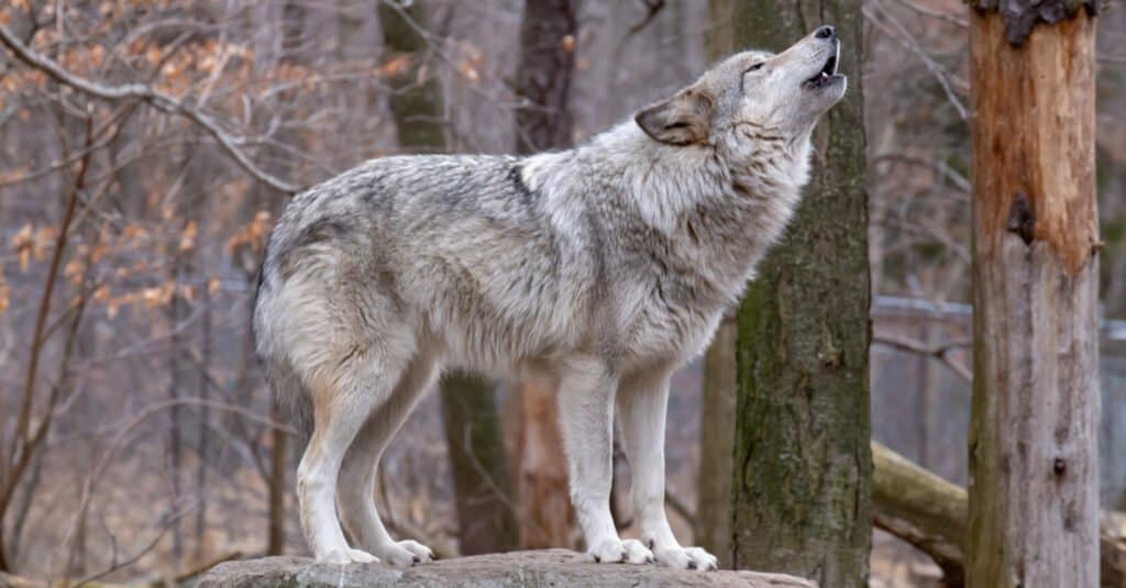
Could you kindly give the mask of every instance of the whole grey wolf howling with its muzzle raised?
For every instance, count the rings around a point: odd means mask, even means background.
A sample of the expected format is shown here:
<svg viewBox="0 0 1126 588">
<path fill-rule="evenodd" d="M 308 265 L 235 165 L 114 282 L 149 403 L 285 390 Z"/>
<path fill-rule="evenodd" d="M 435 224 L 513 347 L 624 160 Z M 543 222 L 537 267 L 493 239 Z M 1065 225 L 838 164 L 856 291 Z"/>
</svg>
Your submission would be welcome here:
<svg viewBox="0 0 1126 588">
<path fill-rule="evenodd" d="M 777 55 L 734 54 L 570 151 L 388 157 L 294 198 L 269 239 L 253 326 L 277 397 L 312 420 L 297 496 L 315 558 L 434 558 L 387 534 L 373 487 L 448 366 L 558 391 L 595 560 L 714 569 L 665 519 L 669 378 L 790 219 L 813 126 L 844 95 L 838 55 L 821 27 Z M 615 413 L 640 541 L 610 517 Z"/>
</svg>

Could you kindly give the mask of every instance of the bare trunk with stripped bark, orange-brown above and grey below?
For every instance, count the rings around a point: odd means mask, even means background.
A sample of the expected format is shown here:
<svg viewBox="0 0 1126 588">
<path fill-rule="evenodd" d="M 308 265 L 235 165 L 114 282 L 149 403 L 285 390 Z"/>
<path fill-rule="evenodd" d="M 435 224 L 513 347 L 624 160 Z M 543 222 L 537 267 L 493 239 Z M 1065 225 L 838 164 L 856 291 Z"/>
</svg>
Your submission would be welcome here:
<svg viewBox="0 0 1126 588">
<path fill-rule="evenodd" d="M 1092 587 L 1099 583 L 1094 19 L 1073 0 L 982 3 L 992 6 L 969 15 L 974 392 L 966 579 L 990 588 Z M 1058 23 L 1037 25 L 1039 15 Z"/>
</svg>

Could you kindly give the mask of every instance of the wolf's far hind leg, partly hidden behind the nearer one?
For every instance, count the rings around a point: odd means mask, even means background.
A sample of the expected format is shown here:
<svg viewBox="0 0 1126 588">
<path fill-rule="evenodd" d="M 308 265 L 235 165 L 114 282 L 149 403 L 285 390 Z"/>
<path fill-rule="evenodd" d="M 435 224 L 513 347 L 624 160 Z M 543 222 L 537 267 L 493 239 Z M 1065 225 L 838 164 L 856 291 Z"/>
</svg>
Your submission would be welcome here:
<svg viewBox="0 0 1126 588">
<path fill-rule="evenodd" d="M 368 416 L 345 454 L 337 496 L 345 526 L 359 546 L 392 565 L 434 560 L 434 551 L 414 541 L 395 542 L 375 508 L 375 480 L 379 458 L 391 438 L 414 409 L 437 373 L 435 359 L 419 351 L 403 373 L 391 398 Z"/>
</svg>

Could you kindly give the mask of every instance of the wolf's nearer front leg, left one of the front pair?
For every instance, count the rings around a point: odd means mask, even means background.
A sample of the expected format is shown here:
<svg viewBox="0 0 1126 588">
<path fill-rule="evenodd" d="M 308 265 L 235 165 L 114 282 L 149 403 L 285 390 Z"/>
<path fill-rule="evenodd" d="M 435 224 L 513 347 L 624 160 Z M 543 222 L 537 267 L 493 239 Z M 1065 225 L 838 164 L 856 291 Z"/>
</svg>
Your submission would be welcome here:
<svg viewBox="0 0 1126 588">
<path fill-rule="evenodd" d="M 595 359 L 569 362 L 558 386 L 560 425 L 570 469 L 571 504 L 598 562 L 649 563 L 640 541 L 622 541 L 610 516 L 615 377 Z"/>
</svg>

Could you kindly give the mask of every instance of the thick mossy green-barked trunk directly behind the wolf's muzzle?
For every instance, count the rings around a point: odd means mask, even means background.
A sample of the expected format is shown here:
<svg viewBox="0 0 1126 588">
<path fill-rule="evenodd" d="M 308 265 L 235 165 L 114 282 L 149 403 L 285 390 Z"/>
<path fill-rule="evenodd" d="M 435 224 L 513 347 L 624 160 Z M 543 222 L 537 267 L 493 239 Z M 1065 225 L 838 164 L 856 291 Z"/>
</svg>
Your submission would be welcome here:
<svg viewBox="0 0 1126 588">
<path fill-rule="evenodd" d="M 810 19 L 803 17 L 810 15 Z M 870 303 L 859 0 L 736 5 L 736 46 L 840 32 L 849 92 L 819 123 L 813 178 L 739 310 L 734 565 L 866 586 Z"/>
</svg>

